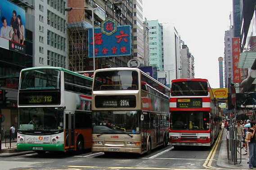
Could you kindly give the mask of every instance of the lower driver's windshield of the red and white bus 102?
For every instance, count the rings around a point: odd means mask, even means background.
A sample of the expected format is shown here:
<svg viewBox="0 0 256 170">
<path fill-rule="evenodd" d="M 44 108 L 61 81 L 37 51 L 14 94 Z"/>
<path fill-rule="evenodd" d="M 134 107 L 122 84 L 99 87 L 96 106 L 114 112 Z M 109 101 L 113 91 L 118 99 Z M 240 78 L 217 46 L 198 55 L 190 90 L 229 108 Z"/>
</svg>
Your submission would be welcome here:
<svg viewBox="0 0 256 170">
<path fill-rule="evenodd" d="M 173 130 L 209 130 L 210 113 L 207 112 L 172 112 L 171 129 Z"/>
</svg>

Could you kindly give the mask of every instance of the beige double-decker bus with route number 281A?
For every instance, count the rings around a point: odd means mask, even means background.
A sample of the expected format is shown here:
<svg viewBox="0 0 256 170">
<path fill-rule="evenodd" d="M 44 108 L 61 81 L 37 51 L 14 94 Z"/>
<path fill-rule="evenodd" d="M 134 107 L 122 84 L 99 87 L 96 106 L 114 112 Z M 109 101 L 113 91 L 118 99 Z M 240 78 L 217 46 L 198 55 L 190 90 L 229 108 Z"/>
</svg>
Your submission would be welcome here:
<svg viewBox="0 0 256 170">
<path fill-rule="evenodd" d="M 94 72 L 93 152 L 150 152 L 169 139 L 170 89 L 136 68 Z"/>
</svg>

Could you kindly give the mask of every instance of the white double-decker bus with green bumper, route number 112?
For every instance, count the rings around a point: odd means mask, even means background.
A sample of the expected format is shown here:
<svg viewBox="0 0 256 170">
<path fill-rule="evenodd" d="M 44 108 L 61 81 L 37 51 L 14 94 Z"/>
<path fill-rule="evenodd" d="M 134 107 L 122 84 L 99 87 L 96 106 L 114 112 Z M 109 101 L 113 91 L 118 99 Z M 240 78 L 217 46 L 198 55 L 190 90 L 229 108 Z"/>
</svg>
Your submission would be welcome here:
<svg viewBox="0 0 256 170">
<path fill-rule="evenodd" d="M 90 148 L 93 79 L 60 67 L 33 67 L 20 73 L 18 150 Z"/>
</svg>

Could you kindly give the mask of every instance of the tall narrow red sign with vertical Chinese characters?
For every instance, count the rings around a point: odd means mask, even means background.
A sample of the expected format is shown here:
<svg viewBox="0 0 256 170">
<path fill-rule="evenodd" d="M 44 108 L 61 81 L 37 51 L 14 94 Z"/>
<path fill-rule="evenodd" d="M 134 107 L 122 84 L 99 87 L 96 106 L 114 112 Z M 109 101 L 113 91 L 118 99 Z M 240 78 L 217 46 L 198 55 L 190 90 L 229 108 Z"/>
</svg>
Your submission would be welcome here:
<svg viewBox="0 0 256 170">
<path fill-rule="evenodd" d="M 232 58 L 233 58 L 233 83 L 241 83 L 241 69 L 238 68 L 240 57 L 240 39 L 232 38 Z"/>
</svg>

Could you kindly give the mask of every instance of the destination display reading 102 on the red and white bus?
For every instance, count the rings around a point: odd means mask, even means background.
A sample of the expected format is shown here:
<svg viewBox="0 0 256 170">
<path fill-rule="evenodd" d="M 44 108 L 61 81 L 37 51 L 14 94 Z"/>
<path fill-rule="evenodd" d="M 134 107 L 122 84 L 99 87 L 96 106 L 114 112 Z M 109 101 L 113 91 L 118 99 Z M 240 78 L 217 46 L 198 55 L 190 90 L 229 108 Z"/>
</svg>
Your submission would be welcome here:
<svg viewBox="0 0 256 170">
<path fill-rule="evenodd" d="M 177 108 L 202 108 L 201 98 L 178 99 Z"/>
</svg>

